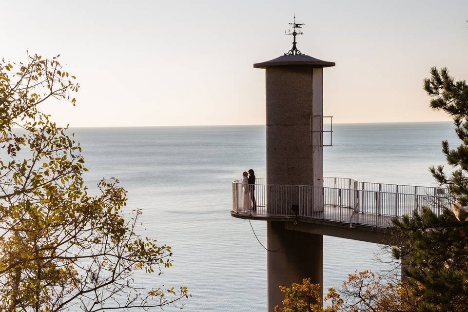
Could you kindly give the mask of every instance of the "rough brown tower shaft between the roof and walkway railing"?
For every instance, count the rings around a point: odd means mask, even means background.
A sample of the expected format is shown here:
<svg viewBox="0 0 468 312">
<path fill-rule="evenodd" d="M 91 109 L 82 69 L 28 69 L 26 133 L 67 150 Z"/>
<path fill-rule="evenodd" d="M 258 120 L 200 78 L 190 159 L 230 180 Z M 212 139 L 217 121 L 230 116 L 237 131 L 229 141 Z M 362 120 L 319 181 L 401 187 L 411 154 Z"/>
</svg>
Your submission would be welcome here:
<svg viewBox="0 0 468 312">
<path fill-rule="evenodd" d="M 323 115 L 322 68 L 266 69 L 267 184 L 323 186 L 323 147 L 311 117 Z M 312 118 L 320 131 L 321 118 Z M 312 142 L 318 145 L 320 132 Z"/>
</svg>

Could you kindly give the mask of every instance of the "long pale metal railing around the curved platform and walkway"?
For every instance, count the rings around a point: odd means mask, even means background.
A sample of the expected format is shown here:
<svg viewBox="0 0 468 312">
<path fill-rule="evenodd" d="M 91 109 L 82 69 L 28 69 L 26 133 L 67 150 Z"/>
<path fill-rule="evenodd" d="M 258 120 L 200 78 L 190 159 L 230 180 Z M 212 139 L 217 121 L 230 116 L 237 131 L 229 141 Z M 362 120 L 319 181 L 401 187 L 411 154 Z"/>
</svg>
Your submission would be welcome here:
<svg viewBox="0 0 468 312">
<path fill-rule="evenodd" d="M 386 228 L 393 217 L 411 216 L 423 206 L 439 215 L 453 202 L 445 189 L 434 187 L 360 182 L 339 177 L 324 178 L 324 187 L 265 182 L 265 178 L 257 178 L 253 186 L 242 184 L 241 180 L 234 181 L 233 211 Z"/>
</svg>

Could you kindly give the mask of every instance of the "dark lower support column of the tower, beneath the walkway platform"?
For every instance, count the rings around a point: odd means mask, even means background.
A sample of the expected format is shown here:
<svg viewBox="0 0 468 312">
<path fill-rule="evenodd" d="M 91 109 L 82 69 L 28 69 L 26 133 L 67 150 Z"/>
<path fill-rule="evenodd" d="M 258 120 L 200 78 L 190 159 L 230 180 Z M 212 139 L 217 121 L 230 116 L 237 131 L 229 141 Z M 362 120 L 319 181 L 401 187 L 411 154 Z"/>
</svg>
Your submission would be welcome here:
<svg viewBox="0 0 468 312">
<path fill-rule="evenodd" d="M 284 294 L 279 286 L 289 287 L 303 278 L 320 284 L 323 297 L 323 235 L 286 230 L 285 223 L 267 222 L 268 249 L 275 251 L 267 254 L 268 312 L 281 307 Z"/>
</svg>

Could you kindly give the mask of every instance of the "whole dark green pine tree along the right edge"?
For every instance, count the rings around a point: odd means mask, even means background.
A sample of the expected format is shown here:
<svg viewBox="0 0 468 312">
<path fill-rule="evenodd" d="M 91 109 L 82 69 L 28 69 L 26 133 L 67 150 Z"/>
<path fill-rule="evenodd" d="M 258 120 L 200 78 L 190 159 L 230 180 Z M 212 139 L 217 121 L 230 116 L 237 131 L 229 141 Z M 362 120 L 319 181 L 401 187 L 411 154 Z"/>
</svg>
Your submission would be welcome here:
<svg viewBox="0 0 468 312">
<path fill-rule="evenodd" d="M 442 152 L 453 171 L 447 174 L 444 166 L 438 166 L 430 172 L 456 198 L 452 208 L 459 212 L 468 204 L 468 85 L 450 77 L 447 68 L 433 67 L 430 74 L 424 80 L 430 106 L 453 118 L 461 140 L 456 149 L 450 149 L 448 141 L 442 142 Z M 407 282 L 420 298 L 418 311 L 461 312 L 468 307 L 468 222 L 460 222 L 460 214 L 449 208 L 441 207 L 441 215 L 425 208 L 412 218 L 394 220 L 402 240 L 394 244 L 393 255 L 406 262 Z"/>
</svg>

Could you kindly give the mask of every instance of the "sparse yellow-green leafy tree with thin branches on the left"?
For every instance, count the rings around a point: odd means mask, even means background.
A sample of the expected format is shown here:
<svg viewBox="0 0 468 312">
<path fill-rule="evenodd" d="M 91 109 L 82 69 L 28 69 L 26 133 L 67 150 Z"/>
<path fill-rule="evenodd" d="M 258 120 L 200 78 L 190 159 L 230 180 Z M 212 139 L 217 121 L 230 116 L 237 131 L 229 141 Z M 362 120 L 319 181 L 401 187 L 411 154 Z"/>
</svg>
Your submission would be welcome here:
<svg viewBox="0 0 468 312">
<path fill-rule="evenodd" d="M 136 270 L 170 267 L 171 247 L 135 233 L 141 212 L 124 218 L 117 179 L 88 194 L 79 143 L 39 110 L 46 100 L 75 105 L 78 89 L 59 57 L 0 62 L 0 310 L 178 304 L 185 287 L 148 290 L 133 280 Z"/>
</svg>

